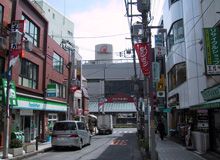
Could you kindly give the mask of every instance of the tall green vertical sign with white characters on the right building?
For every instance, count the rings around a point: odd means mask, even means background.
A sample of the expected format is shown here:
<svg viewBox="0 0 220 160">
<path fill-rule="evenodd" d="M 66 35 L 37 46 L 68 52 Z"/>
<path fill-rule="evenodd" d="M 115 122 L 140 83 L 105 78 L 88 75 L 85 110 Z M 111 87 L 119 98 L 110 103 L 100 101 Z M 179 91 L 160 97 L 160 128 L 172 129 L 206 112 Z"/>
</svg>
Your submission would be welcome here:
<svg viewBox="0 0 220 160">
<path fill-rule="evenodd" d="M 204 28 L 206 74 L 220 74 L 220 29 Z"/>
</svg>

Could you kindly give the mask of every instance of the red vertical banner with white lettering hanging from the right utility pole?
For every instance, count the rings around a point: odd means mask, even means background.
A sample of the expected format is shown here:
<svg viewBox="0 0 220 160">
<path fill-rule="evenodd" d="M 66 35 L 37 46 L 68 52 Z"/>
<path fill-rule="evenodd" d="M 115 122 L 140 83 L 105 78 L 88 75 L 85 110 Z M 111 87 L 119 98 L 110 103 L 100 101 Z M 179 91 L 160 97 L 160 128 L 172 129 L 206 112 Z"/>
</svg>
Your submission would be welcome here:
<svg viewBox="0 0 220 160">
<path fill-rule="evenodd" d="M 149 43 L 136 43 L 134 48 L 137 52 L 141 70 L 145 76 L 150 75 L 150 45 Z"/>
</svg>

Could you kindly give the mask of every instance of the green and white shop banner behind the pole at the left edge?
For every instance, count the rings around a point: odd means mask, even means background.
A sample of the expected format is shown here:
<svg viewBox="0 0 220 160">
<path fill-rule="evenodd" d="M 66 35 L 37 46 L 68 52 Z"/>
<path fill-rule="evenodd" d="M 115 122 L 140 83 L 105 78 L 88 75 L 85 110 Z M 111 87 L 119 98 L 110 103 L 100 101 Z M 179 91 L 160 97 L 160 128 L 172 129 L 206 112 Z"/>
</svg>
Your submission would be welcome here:
<svg viewBox="0 0 220 160">
<path fill-rule="evenodd" d="M 7 95 L 7 80 L 0 80 L 0 101 L 1 103 L 6 104 L 6 95 Z M 10 82 L 10 90 L 9 90 L 9 105 L 17 106 L 17 97 L 16 97 L 16 87 L 14 81 Z"/>
</svg>

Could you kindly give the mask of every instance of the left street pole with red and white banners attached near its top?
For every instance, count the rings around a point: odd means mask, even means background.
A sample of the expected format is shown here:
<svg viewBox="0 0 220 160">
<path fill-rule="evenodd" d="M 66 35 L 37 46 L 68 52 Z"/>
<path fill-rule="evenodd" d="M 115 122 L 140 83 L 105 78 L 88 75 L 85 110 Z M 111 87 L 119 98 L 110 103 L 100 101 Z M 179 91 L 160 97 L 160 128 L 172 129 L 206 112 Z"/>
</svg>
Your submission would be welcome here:
<svg viewBox="0 0 220 160">
<path fill-rule="evenodd" d="M 11 23 L 11 28 L 9 31 L 9 56 L 8 64 L 6 71 L 6 91 L 3 84 L 4 98 L 3 102 L 5 103 L 5 115 L 4 115 L 4 144 L 3 144 L 3 159 L 8 158 L 8 148 L 9 148 L 9 126 L 10 126 L 10 105 L 13 104 L 10 102 L 10 93 L 11 93 L 11 79 L 12 79 L 12 67 L 16 64 L 17 59 L 20 54 L 22 54 L 23 47 L 23 37 L 24 37 L 24 21 L 17 20 Z M 17 103 L 17 102 L 16 102 Z"/>
</svg>

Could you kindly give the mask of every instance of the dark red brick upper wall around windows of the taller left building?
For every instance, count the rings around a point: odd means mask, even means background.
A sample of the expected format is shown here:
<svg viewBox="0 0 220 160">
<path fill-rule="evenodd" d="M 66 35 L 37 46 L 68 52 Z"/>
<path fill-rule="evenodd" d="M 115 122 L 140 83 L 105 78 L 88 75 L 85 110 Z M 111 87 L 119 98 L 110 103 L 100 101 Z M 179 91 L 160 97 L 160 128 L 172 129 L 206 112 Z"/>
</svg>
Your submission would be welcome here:
<svg viewBox="0 0 220 160">
<path fill-rule="evenodd" d="M 20 20 L 22 14 L 28 16 L 40 29 L 40 44 L 39 47 L 33 47 L 31 52 L 25 51 L 24 58 L 38 65 L 38 88 L 30 89 L 18 85 L 18 76 L 20 73 L 20 62 L 13 67 L 12 79 L 15 80 L 17 85 L 17 91 L 24 93 L 31 93 L 39 96 L 43 96 L 45 91 L 45 60 L 47 51 L 47 34 L 48 34 L 48 22 L 38 12 L 38 10 L 28 0 L 17 0 L 16 1 L 16 13 L 13 20 Z"/>
</svg>

